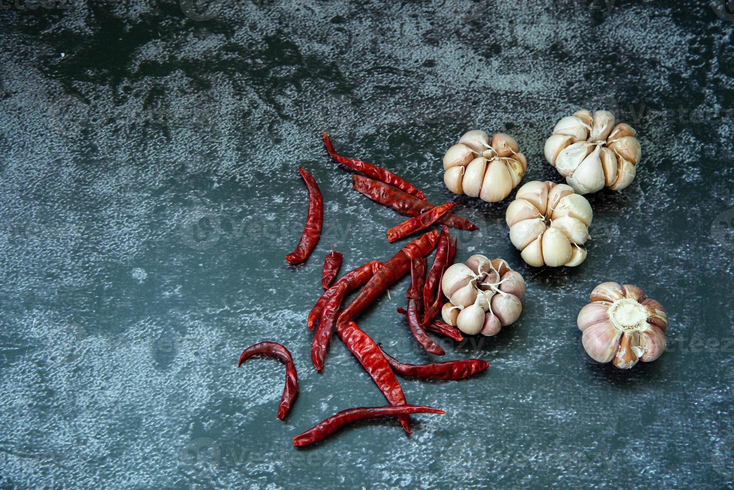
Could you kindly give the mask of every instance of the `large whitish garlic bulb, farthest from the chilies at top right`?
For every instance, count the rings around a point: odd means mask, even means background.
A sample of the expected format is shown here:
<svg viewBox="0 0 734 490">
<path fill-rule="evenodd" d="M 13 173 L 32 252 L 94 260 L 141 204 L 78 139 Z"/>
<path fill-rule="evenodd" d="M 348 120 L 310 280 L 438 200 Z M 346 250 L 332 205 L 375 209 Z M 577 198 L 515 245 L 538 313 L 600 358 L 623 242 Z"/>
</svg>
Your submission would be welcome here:
<svg viewBox="0 0 734 490">
<path fill-rule="evenodd" d="M 577 194 L 604 187 L 621 191 L 632 183 L 640 161 L 635 135 L 625 122 L 614 125 L 609 111 L 576 111 L 553 128 L 545 142 L 545 159 Z"/>
</svg>

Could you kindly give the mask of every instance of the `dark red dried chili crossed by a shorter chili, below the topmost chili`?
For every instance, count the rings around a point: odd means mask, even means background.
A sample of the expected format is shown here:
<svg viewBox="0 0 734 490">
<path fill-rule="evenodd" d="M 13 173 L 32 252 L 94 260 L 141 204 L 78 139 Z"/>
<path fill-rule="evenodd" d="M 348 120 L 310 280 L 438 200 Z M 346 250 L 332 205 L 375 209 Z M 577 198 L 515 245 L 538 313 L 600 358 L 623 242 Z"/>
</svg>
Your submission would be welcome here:
<svg viewBox="0 0 734 490">
<path fill-rule="evenodd" d="M 352 175 L 352 187 L 360 194 L 369 197 L 374 202 L 393 208 L 407 216 L 418 216 L 424 211 L 435 208 L 435 204 L 421 201 L 400 189 L 390 186 L 379 180 L 367 178 L 364 175 Z M 459 230 L 479 230 L 476 224 L 455 214 L 446 213 L 438 219 L 438 223 L 446 224 Z"/>
</svg>

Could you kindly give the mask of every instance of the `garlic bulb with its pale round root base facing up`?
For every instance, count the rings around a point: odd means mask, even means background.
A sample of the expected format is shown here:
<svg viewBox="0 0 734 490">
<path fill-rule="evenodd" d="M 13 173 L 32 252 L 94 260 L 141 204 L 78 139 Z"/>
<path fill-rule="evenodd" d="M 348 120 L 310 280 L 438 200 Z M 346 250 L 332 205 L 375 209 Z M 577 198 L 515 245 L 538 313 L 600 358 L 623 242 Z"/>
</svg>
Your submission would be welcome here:
<svg viewBox="0 0 734 490">
<path fill-rule="evenodd" d="M 578 312 L 581 343 L 597 362 L 612 361 L 629 369 L 638 360 L 650 362 L 665 351 L 668 314 L 637 286 L 603 282 L 591 293 L 591 303 Z"/>
</svg>

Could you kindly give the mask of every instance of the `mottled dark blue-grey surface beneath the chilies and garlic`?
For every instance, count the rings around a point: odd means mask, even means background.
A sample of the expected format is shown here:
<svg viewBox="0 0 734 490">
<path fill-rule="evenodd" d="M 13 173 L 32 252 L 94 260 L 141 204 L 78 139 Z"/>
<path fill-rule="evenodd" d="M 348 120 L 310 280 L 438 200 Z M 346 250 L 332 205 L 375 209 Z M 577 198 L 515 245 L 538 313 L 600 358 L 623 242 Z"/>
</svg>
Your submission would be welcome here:
<svg viewBox="0 0 734 490">
<path fill-rule="evenodd" d="M 722 1 L 69 1 L 0 5 L 1 486 L 733 486 Z M 624 194 L 591 197 L 586 262 L 528 268 L 509 200 L 459 198 L 481 230 L 458 234 L 457 258 L 504 257 L 528 281 L 515 326 L 446 345 L 490 370 L 406 379 L 408 401 L 447 412 L 413 417 L 413 436 L 383 420 L 295 450 L 327 415 L 384 403 L 338 340 L 315 373 L 305 314 L 331 244 L 343 271 L 387 258 L 402 219 L 351 190 L 321 131 L 443 202 L 440 158 L 471 128 L 514 135 L 524 181 L 559 181 L 542 145 L 580 108 L 615 111 L 643 153 Z M 325 225 L 291 267 L 298 164 Z M 661 359 L 586 356 L 575 316 L 604 280 L 667 307 Z M 394 312 L 406 286 L 360 325 L 425 362 Z M 261 340 L 297 363 L 285 422 L 282 365 L 236 368 Z"/>
</svg>

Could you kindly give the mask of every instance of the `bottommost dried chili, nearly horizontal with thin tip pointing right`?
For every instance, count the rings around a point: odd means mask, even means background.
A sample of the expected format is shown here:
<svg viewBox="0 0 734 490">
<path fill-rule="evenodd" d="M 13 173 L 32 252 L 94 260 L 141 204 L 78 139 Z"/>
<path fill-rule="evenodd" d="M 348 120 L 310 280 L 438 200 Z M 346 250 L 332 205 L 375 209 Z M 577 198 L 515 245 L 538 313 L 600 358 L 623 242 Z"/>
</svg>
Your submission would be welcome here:
<svg viewBox="0 0 734 490">
<path fill-rule="evenodd" d="M 393 417 L 394 415 L 407 414 L 445 414 L 443 410 L 435 409 L 425 405 L 385 405 L 385 406 L 360 406 L 355 409 L 346 409 L 322 420 L 308 431 L 302 432 L 293 438 L 296 446 L 305 446 L 320 441 L 334 434 L 339 428 L 346 424 L 364 419 L 375 419 L 378 417 Z"/>
</svg>

